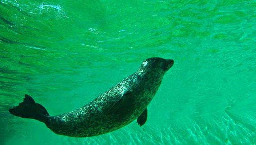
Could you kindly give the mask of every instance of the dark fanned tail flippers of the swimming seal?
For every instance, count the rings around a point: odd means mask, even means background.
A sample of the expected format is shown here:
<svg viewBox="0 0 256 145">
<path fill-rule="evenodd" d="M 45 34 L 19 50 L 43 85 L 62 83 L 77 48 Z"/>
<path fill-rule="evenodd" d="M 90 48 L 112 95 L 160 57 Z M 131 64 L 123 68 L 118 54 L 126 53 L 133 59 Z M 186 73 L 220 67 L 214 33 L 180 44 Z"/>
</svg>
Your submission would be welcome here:
<svg viewBox="0 0 256 145">
<path fill-rule="evenodd" d="M 19 103 L 19 106 L 9 109 L 9 112 L 15 116 L 36 119 L 44 123 L 49 116 L 46 109 L 41 104 L 36 103 L 34 99 L 27 94 L 25 94 L 23 102 Z"/>
</svg>

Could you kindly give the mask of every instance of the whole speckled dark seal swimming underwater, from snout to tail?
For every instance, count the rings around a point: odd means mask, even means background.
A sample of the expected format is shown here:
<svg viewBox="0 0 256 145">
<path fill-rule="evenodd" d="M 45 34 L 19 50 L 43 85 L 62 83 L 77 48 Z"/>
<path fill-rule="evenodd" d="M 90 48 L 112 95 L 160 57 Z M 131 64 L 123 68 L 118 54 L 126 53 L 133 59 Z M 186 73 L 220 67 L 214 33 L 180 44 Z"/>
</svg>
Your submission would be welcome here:
<svg viewBox="0 0 256 145">
<path fill-rule="evenodd" d="M 128 125 L 137 118 L 142 126 L 147 120 L 147 106 L 158 90 L 165 72 L 173 65 L 172 59 L 146 59 L 137 72 L 124 78 L 114 87 L 85 106 L 57 116 L 25 94 L 19 106 L 9 112 L 22 118 L 44 122 L 54 133 L 72 137 L 105 134 Z"/>
</svg>

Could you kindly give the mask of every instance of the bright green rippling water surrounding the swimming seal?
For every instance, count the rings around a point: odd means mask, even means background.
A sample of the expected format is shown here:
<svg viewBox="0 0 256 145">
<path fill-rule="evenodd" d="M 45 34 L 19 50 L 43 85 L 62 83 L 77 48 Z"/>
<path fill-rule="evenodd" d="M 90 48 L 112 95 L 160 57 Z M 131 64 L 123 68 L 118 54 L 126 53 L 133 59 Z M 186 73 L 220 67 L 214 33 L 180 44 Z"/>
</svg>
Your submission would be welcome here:
<svg viewBox="0 0 256 145">
<path fill-rule="evenodd" d="M 1 0 L 0 144 L 255 144 L 255 34 L 255 0 Z M 8 112 L 75 110 L 148 57 L 175 63 L 142 127 L 72 138 Z"/>
</svg>

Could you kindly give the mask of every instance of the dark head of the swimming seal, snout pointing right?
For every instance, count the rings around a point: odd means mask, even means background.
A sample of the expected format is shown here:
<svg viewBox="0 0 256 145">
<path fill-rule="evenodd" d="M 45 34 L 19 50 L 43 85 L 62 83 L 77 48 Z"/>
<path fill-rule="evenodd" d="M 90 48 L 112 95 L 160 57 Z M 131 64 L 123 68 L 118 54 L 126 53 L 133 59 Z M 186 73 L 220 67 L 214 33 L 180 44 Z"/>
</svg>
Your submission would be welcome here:
<svg viewBox="0 0 256 145">
<path fill-rule="evenodd" d="M 172 59 L 164 59 L 160 57 L 151 57 L 146 59 L 140 66 L 139 72 L 157 71 L 165 73 L 173 65 L 174 61 Z"/>
</svg>

